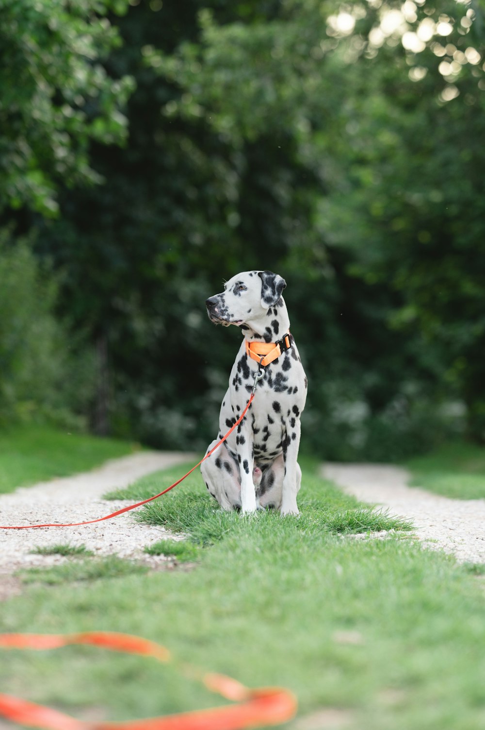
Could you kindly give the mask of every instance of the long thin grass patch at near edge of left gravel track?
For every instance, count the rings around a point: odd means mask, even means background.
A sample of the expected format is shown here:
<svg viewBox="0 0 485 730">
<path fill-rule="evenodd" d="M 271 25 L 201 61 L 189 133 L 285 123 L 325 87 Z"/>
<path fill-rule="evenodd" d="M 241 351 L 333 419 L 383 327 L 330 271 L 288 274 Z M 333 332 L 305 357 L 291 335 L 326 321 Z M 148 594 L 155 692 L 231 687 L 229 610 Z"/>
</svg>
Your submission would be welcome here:
<svg viewBox="0 0 485 730">
<path fill-rule="evenodd" d="M 146 573 L 147 566 L 139 563 L 122 560 L 116 556 L 82 560 L 50 568 L 30 568 L 21 570 L 18 575 L 23 583 L 47 583 L 59 585 L 61 583 L 76 583 L 77 581 L 93 581 L 104 578 L 119 578 L 131 573 Z"/>
</svg>

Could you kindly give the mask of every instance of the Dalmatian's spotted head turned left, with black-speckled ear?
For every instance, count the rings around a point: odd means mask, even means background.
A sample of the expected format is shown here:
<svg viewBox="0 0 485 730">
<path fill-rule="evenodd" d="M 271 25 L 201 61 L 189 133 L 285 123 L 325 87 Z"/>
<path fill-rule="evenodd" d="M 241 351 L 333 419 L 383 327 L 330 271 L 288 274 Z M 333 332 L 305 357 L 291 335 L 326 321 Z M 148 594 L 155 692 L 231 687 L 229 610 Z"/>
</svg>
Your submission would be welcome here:
<svg viewBox="0 0 485 730">
<path fill-rule="evenodd" d="M 265 317 L 276 307 L 285 280 L 273 272 L 243 272 L 225 283 L 224 291 L 206 299 L 207 314 L 214 324 L 241 326 L 248 320 Z"/>
</svg>

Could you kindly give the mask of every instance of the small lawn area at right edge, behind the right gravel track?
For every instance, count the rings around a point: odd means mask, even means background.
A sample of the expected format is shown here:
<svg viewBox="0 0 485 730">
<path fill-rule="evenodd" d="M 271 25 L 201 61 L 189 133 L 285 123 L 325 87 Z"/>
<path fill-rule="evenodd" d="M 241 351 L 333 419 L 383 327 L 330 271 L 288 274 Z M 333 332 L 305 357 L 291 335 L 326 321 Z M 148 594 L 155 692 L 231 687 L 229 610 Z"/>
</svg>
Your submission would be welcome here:
<svg viewBox="0 0 485 730">
<path fill-rule="evenodd" d="M 449 443 L 406 462 L 411 486 L 453 499 L 485 499 L 485 448 Z"/>
</svg>

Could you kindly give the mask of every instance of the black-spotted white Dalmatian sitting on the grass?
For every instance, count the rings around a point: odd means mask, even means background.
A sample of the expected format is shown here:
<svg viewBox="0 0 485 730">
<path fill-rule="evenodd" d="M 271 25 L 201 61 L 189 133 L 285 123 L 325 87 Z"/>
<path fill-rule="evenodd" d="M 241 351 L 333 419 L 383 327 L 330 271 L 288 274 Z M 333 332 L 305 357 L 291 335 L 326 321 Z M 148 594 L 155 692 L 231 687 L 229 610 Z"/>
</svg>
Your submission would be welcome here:
<svg viewBox="0 0 485 730">
<path fill-rule="evenodd" d="M 282 515 L 298 515 L 301 469 L 297 458 L 307 380 L 290 334 L 282 297 L 285 287 L 284 279 L 273 272 L 243 272 L 225 283 L 222 293 L 206 300 L 209 320 L 235 325 L 244 334 L 222 400 L 219 436 L 206 453 L 243 412 L 258 369 L 262 376 L 244 419 L 201 465 L 209 493 L 224 510 L 246 513 L 273 507 Z M 262 343 L 266 350 L 268 343 L 278 343 L 281 350 L 265 366 L 260 364 Z"/>
</svg>

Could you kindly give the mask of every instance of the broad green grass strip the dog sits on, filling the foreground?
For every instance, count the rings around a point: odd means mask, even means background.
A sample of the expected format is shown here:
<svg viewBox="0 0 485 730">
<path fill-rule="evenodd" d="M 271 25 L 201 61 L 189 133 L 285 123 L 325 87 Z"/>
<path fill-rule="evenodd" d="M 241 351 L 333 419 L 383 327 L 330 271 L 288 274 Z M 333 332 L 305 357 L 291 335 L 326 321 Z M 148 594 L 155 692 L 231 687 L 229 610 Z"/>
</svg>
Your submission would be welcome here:
<svg viewBox="0 0 485 730">
<path fill-rule="evenodd" d="M 141 480 L 131 498 L 160 491 L 174 471 Z M 483 580 L 453 558 L 422 550 L 403 525 L 372 517 L 309 464 L 300 518 L 222 513 L 200 476 L 157 502 L 142 518 L 190 536 L 193 570 L 109 580 L 77 573 L 28 586 L 2 605 L 0 630 L 139 634 L 166 645 L 179 666 L 292 689 L 300 718 L 347 711 L 350 730 L 483 729 Z M 396 531 L 350 537 L 383 526 Z M 0 685 L 78 716 L 97 709 L 107 720 L 219 702 L 174 665 L 87 647 L 10 651 Z"/>
</svg>

